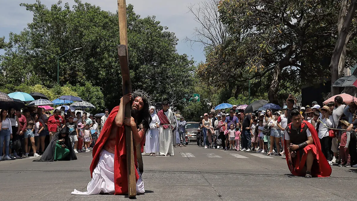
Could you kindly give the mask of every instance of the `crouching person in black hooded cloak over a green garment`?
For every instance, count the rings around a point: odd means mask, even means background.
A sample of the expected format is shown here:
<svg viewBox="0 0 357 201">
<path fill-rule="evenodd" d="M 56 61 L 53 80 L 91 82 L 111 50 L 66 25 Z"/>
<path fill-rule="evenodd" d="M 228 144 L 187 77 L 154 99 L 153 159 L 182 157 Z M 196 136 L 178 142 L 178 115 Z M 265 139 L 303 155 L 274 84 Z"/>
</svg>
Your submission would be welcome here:
<svg viewBox="0 0 357 201">
<path fill-rule="evenodd" d="M 69 153 L 68 153 L 69 152 Z M 69 132 L 67 127 L 62 128 L 60 132 L 57 132 L 40 160 L 34 160 L 34 162 L 47 162 L 47 161 L 70 161 L 77 160 L 77 156 L 74 153 L 69 138 Z"/>
</svg>

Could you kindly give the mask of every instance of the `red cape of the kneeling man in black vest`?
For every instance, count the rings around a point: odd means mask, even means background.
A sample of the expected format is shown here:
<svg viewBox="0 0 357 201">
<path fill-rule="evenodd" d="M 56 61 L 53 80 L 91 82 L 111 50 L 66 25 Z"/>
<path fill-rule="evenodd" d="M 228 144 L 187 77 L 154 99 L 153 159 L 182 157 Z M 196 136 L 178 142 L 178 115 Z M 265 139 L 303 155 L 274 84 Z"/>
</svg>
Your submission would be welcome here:
<svg viewBox="0 0 357 201">
<path fill-rule="evenodd" d="M 288 154 L 288 149 L 287 146 L 288 144 L 286 143 L 286 140 L 284 139 L 285 142 L 285 155 L 286 155 L 286 162 L 288 164 L 289 170 L 290 172 L 294 175 L 294 176 L 305 176 L 304 172 L 300 172 L 303 167 L 305 166 L 306 163 L 306 158 L 307 158 L 307 152 L 311 151 L 315 157 L 315 160 L 312 164 L 311 167 L 311 174 L 312 176 L 315 177 L 329 177 L 331 175 L 332 169 L 330 164 L 328 163 L 326 157 L 323 155 L 322 151 L 321 151 L 321 144 L 320 144 L 320 138 L 318 138 L 318 134 L 317 131 L 315 129 L 314 126 L 312 126 L 311 123 L 303 120 L 302 124 L 306 124 L 308 129 L 310 130 L 312 139 L 313 139 L 313 144 L 310 144 L 308 146 L 306 146 L 303 149 L 303 152 L 305 154 L 303 154 L 302 156 L 300 156 L 297 152 L 296 157 L 292 158 L 292 163 L 291 164 L 289 162 L 289 156 L 290 154 Z M 292 123 L 290 123 L 288 126 L 290 126 Z M 293 167 L 294 166 L 294 167 Z"/>
</svg>

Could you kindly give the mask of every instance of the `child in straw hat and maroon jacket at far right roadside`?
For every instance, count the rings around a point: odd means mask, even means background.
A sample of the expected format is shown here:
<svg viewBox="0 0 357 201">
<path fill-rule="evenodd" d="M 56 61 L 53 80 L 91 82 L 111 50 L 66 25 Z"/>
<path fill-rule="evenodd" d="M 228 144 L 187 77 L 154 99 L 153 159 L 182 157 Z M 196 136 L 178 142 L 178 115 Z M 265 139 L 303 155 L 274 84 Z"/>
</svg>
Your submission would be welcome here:
<svg viewBox="0 0 357 201">
<path fill-rule="evenodd" d="M 350 126 L 346 120 L 342 120 L 341 128 L 347 129 Z M 341 156 L 341 163 L 338 167 L 351 167 L 351 157 L 350 157 L 350 150 L 348 149 L 348 144 L 350 143 L 351 132 L 343 131 L 341 135 L 341 143 L 340 143 L 340 156 Z"/>
</svg>

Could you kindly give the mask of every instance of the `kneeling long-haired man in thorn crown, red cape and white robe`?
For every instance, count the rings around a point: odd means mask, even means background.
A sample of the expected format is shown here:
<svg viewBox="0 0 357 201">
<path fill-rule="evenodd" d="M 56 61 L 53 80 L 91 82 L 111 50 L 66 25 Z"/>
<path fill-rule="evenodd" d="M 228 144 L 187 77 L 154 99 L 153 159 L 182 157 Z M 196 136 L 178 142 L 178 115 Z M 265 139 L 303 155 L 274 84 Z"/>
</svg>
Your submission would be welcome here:
<svg viewBox="0 0 357 201">
<path fill-rule="evenodd" d="M 131 118 L 126 118 L 125 105 L 129 102 L 131 103 Z M 147 99 L 139 95 L 133 97 L 131 94 L 124 95 L 120 99 L 120 105 L 109 114 L 93 148 L 93 160 L 90 165 L 92 181 L 87 185 L 87 192 L 80 192 L 75 189 L 71 194 L 110 193 L 124 195 L 128 193 L 125 126 L 130 126 L 132 130 L 136 192 L 138 194 L 144 193 L 144 182 L 138 170 L 135 147 L 144 138 L 149 129 L 149 122 L 151 122 L 151 116 Z"/>
</svg>

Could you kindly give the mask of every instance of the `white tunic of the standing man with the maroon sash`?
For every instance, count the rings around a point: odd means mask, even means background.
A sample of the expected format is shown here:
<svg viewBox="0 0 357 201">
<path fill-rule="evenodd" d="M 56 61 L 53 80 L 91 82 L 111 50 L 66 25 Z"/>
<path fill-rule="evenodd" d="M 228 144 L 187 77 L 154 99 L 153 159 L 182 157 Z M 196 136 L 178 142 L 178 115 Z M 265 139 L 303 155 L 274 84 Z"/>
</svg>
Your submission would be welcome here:
<svg viewBox="0 0 357 201">
<path fill-rule="evenodd" d="M 172 128 L 176 127 L 176 118 L 175 114 L 171 112 L 171 110 L 168 110 L 167 112 L 164 112 L 166 115 L 167 119 L 169 119 L 169 122 L 171 124 L 171 127 L 164 129 L 162 125 L 160 125 L 159 128 L 159 152 L 160 155 L 167 155 L 170 154 L 171 156 L 174 156 L 174 147 L 172 146 Z"/>
</svg>

